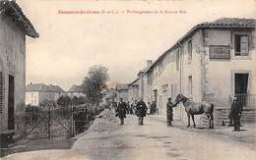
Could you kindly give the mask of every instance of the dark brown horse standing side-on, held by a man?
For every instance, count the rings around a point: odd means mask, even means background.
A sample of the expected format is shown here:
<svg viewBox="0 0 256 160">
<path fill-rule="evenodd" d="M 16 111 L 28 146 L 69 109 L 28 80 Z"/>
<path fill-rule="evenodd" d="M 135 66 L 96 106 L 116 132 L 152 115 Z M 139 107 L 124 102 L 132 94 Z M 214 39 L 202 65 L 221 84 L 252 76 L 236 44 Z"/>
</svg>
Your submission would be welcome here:
<svg viewBox="0 0 256 160">
<path fill-rule="evenodd" d="M 196 128 L 194 115 L 201 115 L 205 113 L 209 119 L 209 129 L 214 129 L 214 104 L 208 102 L 196 103 L 182 94 L 178 94 L 176 96 L 175 102 L 177 104 L 179 102 L 183 103 L 188 117 L 188 128 L 190 127 L 190 116 L 192 117 L 194 128 Z"/>
</svg>

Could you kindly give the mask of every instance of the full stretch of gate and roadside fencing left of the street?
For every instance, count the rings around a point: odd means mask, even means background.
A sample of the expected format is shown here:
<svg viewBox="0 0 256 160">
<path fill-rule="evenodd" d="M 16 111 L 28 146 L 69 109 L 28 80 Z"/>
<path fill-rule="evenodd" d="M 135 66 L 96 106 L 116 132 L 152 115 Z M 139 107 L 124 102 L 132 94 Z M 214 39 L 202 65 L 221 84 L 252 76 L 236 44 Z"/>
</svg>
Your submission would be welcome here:
<svg viewBox="0 0 256 160">
<path fill-rule="evenodd" d="M 26 108 L 28 139 L 70 138 L 83 133 L 102 108 L 81 106 L 41 106 Z"/>
</svg>

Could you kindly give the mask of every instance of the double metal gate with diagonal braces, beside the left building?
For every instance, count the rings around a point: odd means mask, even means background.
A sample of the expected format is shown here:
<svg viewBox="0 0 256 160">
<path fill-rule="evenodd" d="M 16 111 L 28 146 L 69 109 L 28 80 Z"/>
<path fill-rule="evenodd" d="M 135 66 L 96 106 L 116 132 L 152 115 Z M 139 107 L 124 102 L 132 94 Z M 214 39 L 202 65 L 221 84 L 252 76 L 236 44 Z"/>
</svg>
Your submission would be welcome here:
<svg viewBox="0 0 256 160">
<path fill-rule="evenodd" d="M 72 107 L 28 107 L 26 128 L 29 139 L 69 138 L 73 134 Z"/>
</svg>

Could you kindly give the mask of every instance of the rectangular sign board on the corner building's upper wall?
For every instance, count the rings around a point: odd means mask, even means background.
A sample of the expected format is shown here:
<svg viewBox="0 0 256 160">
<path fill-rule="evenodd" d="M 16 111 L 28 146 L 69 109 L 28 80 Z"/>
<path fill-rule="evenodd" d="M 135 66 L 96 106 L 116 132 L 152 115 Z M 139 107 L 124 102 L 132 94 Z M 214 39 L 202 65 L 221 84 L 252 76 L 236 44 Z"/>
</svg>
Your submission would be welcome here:
<svg viewBox="0 0 256 160">
<path fill-rule="evenodd" d="M 230 59 L 229 46 L 212 45 L 209 47 L 210 59 Z"/>
</svg>

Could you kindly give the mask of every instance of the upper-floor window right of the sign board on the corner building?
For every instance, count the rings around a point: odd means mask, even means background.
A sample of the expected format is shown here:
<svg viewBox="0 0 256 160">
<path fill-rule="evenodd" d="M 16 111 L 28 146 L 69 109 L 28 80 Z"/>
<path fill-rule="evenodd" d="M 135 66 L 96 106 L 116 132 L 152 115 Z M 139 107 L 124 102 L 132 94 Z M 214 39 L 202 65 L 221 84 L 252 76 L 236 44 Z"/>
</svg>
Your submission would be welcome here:
<svg viewBox="0 0 256 160">
<path fill-rule="evenodd" d="M 249 36 L 246 34 L 234 35 L 235 56 L 249 55 Z"/>
</svg>

